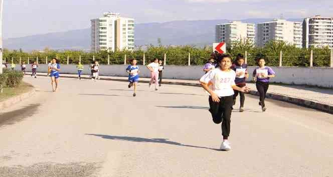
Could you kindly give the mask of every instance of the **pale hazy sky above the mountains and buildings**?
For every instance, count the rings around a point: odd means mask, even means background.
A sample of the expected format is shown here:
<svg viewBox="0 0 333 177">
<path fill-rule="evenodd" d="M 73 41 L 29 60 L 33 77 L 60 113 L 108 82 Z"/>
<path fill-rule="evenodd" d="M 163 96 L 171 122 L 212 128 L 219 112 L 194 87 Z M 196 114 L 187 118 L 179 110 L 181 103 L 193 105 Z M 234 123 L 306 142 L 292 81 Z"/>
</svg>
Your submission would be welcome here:
<svg viewBox="0 0 333 177">
<path fill-rule="evenodd" d="M 333 16 L 333 0 L 4 0 L 3 38 L 90 27 L 103 12 L 136 23 Z"/>
</svg>

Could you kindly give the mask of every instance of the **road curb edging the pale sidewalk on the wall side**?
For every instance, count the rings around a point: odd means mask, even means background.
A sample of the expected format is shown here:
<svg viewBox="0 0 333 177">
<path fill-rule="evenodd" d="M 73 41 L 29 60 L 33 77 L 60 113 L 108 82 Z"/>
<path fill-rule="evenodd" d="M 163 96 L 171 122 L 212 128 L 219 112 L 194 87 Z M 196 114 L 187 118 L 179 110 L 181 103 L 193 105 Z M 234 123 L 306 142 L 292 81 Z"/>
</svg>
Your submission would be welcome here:
<svg viewBox="0 0 333 177">
<path fill-rule="evenodd" d="M 46 75 L 42 75 L 42 74 L 37 74 L 37 75 L 38 76 L 46 76 Z M 77 76 L 61 76 L 61 77 L 77 78 Z M 81 77 L 81 78 L 91 79 L 90 77 Z M 128 79 L 121 79 L 121 78 L 100 78 L 100 79 L 101 80 L 126 81 L 126 82 L 128 82 Z M 149 83 L 149 81 L 147 81 L 147 80 L 141 80 L 140 82 Z M 198 81 L 198 83 L 177 82 L 177 81 L 162 81 L 162 83 L 163 84 L 172 84 L 172 85 L 185 85 L 185 86 L 201 87 L 199 81 Z M 259 95 L 258 91 L 255 91 L 255 90 L 251 90 L 250 92 L 248 92 L 248 94 Z M 308 107 L 308 108 L 312 108 L 312 109 L 316 109 L 316 110 L 320 110 L 320 111 L 323 111 L 323 112 L 333 114 L 333 106 L 328 105 L 328 104 L 315 102 L 315 101 L 308 100 L 308 99 L 286 96 L 286 95 L 282 95 L 282 94 L 278 94 L 278 93 L 267 93 L 266 97 L 270 98 L 270 99 L 289 102 L 289 103 L 293 103 L 293 104 L 296 104 L 296 105 L 299 105 L 299 106 Z"/>
</svg>

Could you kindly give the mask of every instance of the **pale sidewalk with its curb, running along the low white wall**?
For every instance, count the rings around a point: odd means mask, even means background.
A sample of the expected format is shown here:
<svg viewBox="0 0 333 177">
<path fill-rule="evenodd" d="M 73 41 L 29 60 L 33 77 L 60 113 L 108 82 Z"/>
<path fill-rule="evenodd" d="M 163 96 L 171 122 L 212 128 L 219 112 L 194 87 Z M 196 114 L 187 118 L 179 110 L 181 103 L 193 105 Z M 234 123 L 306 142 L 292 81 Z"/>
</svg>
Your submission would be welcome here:
<svg viewBox="0 0 333 177">
<path fill-rule="evenodd" d="M 28 73 L 28 72 L 27 72 Z M 46 73 L 37 73 L 46 76 Z M 77 78 L 77 74 L 61 74 L 61 77 Z M 89 75 L 81 75 L 83 79 L 90 78 Z M 127 77 L 100 76 L 102 80 L 128 81 Z M 140 82 L 147 83 L 150 78 L 140 78 Z M 200 86 L 199 80 L 163 79 L 163 84 L 178 84 L 189 86 Z M 250 94 L 257 95 L 254 83 L 248 83 L 251 88 Z M 284 85 L 270 84 L 266 94 L 268 98 L 294 103 L 297 105 L 314 108 L 333 114 L 333 89 L 318 88 L 307 85 Z"/>
</svg>

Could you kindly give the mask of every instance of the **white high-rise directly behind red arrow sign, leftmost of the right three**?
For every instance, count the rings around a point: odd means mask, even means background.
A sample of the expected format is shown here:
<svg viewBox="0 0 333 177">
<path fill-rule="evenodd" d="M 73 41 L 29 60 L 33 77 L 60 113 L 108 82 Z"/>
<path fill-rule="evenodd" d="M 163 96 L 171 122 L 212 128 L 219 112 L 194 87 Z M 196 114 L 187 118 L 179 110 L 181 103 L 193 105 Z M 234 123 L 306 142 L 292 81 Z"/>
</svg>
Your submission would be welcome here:
<svg viewBox="0 0 333 177">
<path fill-rule="evenodd" d="M 230 21 L 229 23 L 216 25 L 215 41 L 245 41 L 254 43 L 255 25 L 252 23 L 243 23 L 241 21 Z"/>
</svg>

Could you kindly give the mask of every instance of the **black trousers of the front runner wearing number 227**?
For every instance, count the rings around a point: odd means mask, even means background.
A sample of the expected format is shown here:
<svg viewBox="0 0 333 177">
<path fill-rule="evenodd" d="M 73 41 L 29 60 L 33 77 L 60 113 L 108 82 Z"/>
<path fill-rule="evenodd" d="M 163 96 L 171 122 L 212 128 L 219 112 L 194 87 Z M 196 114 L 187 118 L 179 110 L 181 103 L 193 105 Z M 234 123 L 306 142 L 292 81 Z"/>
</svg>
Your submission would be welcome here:
<svg viewBox="0 0 333 177">
<path fill-rule="evenodd" d="M 220 97 L 220 102 L 214 102 L 212 96 L 209 96 L 209 111 L 212 113 L 213 121 L 216 124 L 222 122 L 223 139 L 228 139 L 230 135 L 231 111 L 233 104 L 232 96 Z"/>
</svg>

